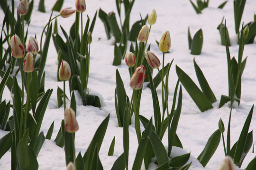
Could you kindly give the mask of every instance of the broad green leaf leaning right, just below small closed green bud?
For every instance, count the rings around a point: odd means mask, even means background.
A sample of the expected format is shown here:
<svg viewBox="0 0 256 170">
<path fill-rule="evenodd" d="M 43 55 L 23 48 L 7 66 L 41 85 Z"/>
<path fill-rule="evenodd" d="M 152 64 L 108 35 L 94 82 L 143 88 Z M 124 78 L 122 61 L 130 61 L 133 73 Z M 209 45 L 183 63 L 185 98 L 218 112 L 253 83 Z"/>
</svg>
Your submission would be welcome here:
<svg viewBox="0 0 256 170">
<path fill-rule="evenodd" d="M 197 157 L 198 161 L 202 164 L 203 167 L 207 165 L 210 161 L 210 158 L 215 153 L 216 149 L 219 146 L 220 141 L 220 131 L 217 129 L 208 139 L 203 151 Z"/>
</svg>

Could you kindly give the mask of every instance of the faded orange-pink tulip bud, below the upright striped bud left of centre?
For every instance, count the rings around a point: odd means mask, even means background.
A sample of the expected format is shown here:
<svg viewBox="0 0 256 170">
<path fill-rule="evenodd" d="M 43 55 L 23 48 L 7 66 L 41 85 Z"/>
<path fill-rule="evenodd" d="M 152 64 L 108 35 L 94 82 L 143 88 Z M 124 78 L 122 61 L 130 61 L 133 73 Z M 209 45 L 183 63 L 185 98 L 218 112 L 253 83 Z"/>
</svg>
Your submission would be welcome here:
<svg viewBox="0 0 256 170">
<path fill-rule="evenodd" d="M 74 133 L 78 130 L 78 124 L 75 118 L 75 112 L 72 108 L 66 108 L 64 114 L 65 129 L 69 133 Z"/>
</svg>

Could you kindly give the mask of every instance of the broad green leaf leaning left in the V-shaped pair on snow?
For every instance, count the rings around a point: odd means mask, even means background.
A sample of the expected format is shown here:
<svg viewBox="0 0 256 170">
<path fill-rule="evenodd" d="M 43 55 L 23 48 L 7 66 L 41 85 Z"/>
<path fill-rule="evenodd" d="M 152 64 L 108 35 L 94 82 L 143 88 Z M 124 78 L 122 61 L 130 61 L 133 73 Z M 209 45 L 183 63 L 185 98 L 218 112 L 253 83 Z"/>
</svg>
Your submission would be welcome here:
<svg viewBox="0 0 256 170">
<path fill-rule="evenodd" d="M 201 112 L 205 110 L 212 109 L 213 106 L 211 105 L 209 99 L 205 96 L 204 93 L 197 87 L 197 85 L 192 81 L 192 79 L 185 73 L 181 68 L 176 65 L 176 73 L 177 75 L 181 75 L 181 83 L 184 88 L 187 90 L 189 95 L 191 96 L 192 100 L 195 102 L 199 110 Z"/>
</svg>

